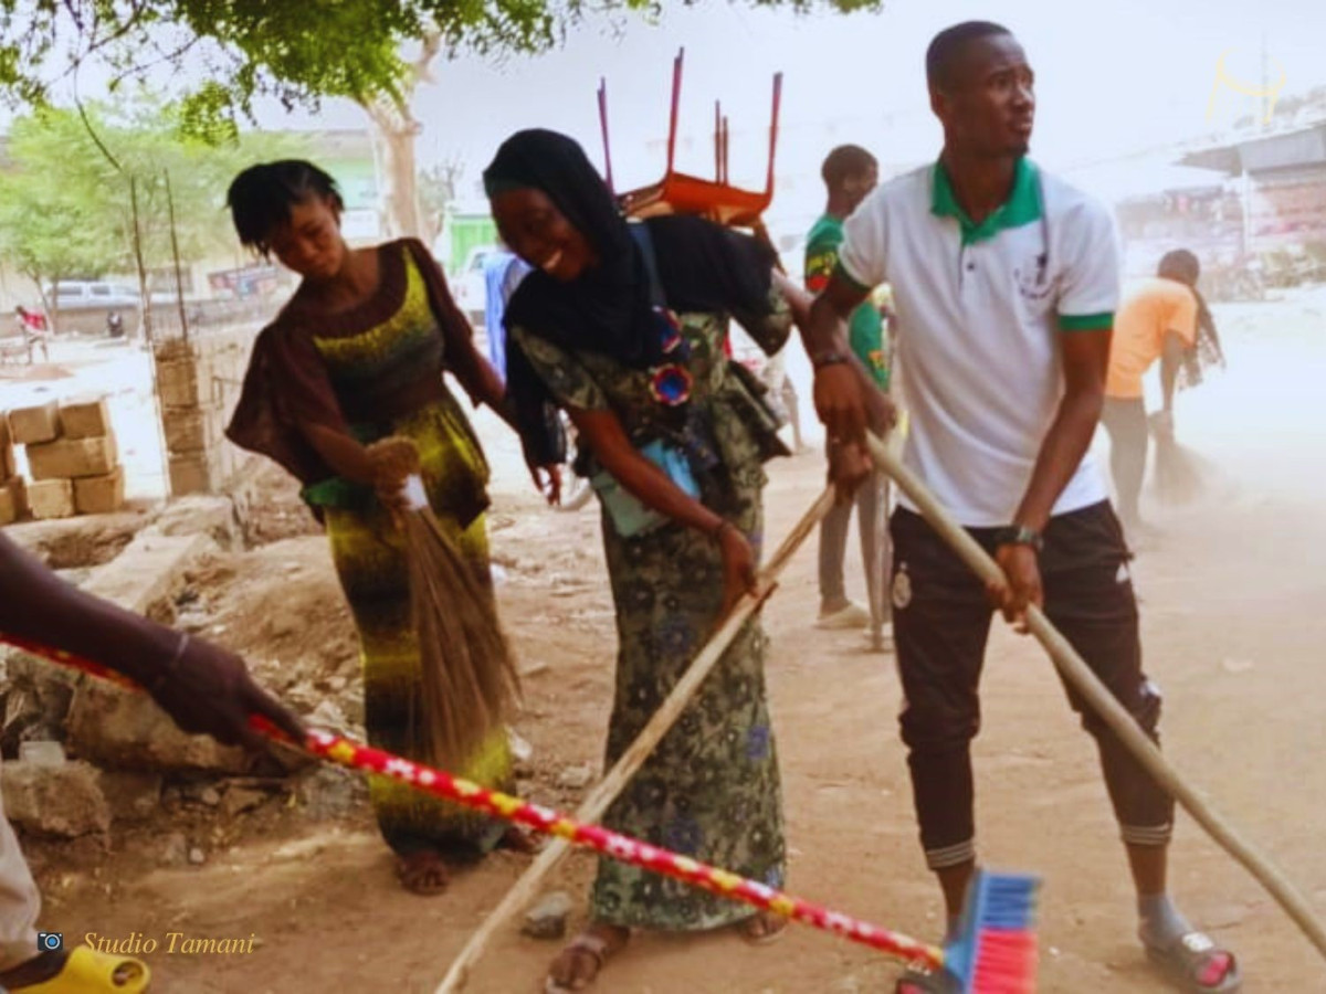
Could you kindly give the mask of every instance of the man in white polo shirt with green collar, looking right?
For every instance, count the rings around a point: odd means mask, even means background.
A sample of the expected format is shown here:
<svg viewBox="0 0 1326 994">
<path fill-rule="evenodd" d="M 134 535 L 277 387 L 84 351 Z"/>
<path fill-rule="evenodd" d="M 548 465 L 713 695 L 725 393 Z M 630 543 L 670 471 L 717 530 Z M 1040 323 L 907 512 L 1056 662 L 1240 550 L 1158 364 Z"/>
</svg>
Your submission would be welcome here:
<svg viewBox="0 0 1326 994">
<path fill-rule="evenodd" d="M 894 639 L 922 844 L 952 930 L 976 865 L 971 741 L 992 602 L 1050 620 L 1152 737 L 1160 696 L 1142 672 L 1128 551 L 1087 456 L 1118 304 L 1109 211 L 1026 159 L 1033 74 L 1004 28 L 941 32 L 926 57 L 944 127 L 934 166 L 875 190 L 846 221 L 815 302 L 815 406 L 831 439 L 861 437 L 867 398 L 842 322 L 870 288 L 894 288 L 898 366 L 911 417 L 904 460 L 998 561 L 985 590 L 904 498 L 895 513 Z M 834 334 L 837 329 L 837 334 Z M 887 403 L 887 402 L 883 402 Z M 1139 936 L 1183 990 L 1232 991 L 1235 958 L 1166 892 L 1174 802 L 1077 694 L 1138 889 Z M 943 989 L 910 971 L 899 991 Z"/>
</svg>

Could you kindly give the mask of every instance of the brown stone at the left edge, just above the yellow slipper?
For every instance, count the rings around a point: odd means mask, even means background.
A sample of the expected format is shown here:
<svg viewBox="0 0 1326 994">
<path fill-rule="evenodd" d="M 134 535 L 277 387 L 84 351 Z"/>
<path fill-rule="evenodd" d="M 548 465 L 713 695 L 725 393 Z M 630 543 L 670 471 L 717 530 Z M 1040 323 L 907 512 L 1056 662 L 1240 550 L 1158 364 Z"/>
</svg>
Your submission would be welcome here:
<svg viewBox="0 0 1326 994">
<path fill-rule="evenodd" d="M 91 763 L 7 762 L 0 766 L 0 794 L 9 820 L 34 835 L 77 839 L 110 828 L 110 806 Z"/>
</svg>

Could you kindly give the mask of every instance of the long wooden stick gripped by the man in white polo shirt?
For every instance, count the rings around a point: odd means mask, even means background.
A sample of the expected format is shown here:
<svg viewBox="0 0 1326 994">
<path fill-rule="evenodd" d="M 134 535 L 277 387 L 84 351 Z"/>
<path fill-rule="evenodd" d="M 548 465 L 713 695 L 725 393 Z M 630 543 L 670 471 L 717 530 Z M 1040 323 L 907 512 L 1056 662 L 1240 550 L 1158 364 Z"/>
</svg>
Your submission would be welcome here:
<svg viewBox="0 0 1326 994">
<path fill-rule="evenodd" d="M 967 530 L 959 525 L 953 517 L 943 508 L 926 485 L 902 461 L 888 451 L 888 448 L 875 436 L 869 437 L 870 457 L 875 465 L 888 473 L 903 493 L 915 501 L 926 520 L 935 527 L 948 545 L 956 551 L 980 577 L 991 583 L 1002 583 L 1004 571 L 981 549 Z M 1207 834 L 1242 867 L 1253 875 L 1266 892 L 1276 899 L 1285 913 L 1293 918 L 1294 924 L 1302 929 L 1317 950 L 1326 957 L 1326 929 L 1313 913 L 1311 905 L 1285 877 L 1284 873 L 1250 843 L 1248 843 L 1225 819 L 1219 815 L 1203 794 L 1191 786 L 1180 773 L 1156 747 L 1155 742 L 1147 738 L 1138 726 L 1132 716 L 1124 710 L 1114 694 L 1091 668 L 1087 667 L 1077 649 L 1069 640 L 1050 623 L 1045 614 L 1034 604 L 1026 612 L 1026 624 L 1030 632 L 1050 653 L 1055 668 L 1091 705 L 1097 714 L 1114 730 L 1128 751 L 1140 762 L 1155 779 L 1170 791 L 1171 797 L 1183 804 L 1184 810 L 1192 815 Z"/>
</svg>

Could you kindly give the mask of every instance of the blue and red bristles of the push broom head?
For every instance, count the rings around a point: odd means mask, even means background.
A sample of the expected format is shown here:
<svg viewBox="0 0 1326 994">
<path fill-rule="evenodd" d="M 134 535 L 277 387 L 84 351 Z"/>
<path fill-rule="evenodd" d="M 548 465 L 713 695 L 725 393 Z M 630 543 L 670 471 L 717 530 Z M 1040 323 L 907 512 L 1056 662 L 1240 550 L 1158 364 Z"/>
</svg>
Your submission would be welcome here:
<svg viewBox="0 0 1326 994">
<path fill-rule="evenodd" d="M 963 994 L 1036 990 L 1036 905 L 1040 879 L 977 871 L 957 941 L 944 948 L 944 970 Z"/>
</svg>

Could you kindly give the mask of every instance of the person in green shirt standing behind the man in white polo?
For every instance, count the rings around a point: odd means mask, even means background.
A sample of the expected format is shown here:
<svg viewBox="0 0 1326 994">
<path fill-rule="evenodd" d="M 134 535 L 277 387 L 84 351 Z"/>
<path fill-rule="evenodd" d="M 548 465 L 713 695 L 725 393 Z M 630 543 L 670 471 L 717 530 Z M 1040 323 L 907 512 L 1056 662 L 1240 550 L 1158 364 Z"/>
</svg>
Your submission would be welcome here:
<svg viewBox="0 0 1326 994">
<path fill-rule="evenodd" d="M 875 156 L 855 144 L 843 144 L 829 152 L 821 168 L 829 201 L 823 216 L 814 223 L 806 236 L 806 288 L 818 293 L 827 284 L 838 265 L 838 247 L 842 245 L 842 223 L 879 182 Z M 888 359 L 884 322 L 879 309 L 871 302 L 862 304 L 851 314 L 849 342 L 853 353 L 874 375 L 880 390 L 888 390 Z M 835 457 L 829 447 L 830 461 Z M 887 573 L 888 531 L 883 526 L 887 510 L 884 481 L 876 473 L 857 492 L 857 516 L 861 527 L 861 551 L 866 563 L 866 584 L 874 611 L 867 611 L 847 598 L 843 582 L 843 558 L 847 551 L 847 529 L 851 524 L 851 504 L 834 508 L 819 527 L 819 628 L 865 628 L 873 623 L 876 648 L 882 648 L 883 628 L 888 620 L 888 599 L 882 596 L 875 569 L 884 565 Z"/>
</svg>

